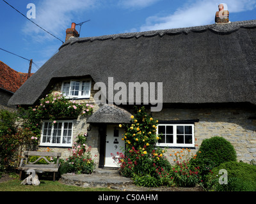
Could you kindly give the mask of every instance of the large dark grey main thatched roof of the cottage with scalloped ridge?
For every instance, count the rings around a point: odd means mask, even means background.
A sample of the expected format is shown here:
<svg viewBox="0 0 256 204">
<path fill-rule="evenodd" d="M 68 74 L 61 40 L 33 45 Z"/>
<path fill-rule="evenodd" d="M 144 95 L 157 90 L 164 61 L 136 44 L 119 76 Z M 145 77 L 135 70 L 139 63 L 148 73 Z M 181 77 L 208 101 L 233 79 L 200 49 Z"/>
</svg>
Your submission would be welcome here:
<svg viewBox="0 0 256 204">
<path fill-rule="evenodd" d="M 57 79 L 163 82 L 164 103 L 256 104 L 256 20 L 73 38 L 10 99 L 33 105 Z"/>
</svg>

